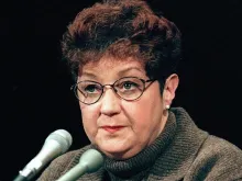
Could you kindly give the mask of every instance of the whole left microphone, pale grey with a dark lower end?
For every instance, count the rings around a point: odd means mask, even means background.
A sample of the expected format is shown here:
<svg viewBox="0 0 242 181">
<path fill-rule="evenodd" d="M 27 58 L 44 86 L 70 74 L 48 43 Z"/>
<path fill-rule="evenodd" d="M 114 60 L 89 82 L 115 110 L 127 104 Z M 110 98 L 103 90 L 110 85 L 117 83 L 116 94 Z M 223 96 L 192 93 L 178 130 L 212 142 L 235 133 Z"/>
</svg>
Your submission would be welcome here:
<svg viewBox="0 0 242 181">
<path fill-rule="evenodd" d="M 66 152 L 73 144 L 73 137 L 65 129 L 57 129 L 45 139 L 41 151 L 34 157 L 14 181 L 31 180 L 51 160 Z"/>
</svg>

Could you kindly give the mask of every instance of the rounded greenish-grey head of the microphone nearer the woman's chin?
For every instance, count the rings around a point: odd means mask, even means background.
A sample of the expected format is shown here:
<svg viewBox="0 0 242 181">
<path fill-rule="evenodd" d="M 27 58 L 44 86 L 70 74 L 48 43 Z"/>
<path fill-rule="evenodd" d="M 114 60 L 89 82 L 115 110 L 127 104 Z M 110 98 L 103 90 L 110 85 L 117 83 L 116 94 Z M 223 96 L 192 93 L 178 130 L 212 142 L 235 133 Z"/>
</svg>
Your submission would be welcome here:
<svg viewBox="0 0 242 181">
<path fill-rule="evenodd" d="M 98 150 L 88 149 L 81 155 L 79 165 L 85 166 L 87 169 L 86 171 L 91 173 L 97 171 L 103 165 L 103 157 Z"/>
</svg>

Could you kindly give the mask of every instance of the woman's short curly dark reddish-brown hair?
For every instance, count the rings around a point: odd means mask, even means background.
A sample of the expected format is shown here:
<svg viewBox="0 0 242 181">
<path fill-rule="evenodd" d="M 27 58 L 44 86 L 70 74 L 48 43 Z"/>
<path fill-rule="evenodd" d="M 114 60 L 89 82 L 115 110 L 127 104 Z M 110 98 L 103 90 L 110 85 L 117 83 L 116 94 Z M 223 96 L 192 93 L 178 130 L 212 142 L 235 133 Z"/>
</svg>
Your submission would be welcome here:
<svg viewBox="0 0 242 181">
<path fill-rule="evenodd" d="M 180 59 L 180 32 L 143 0 L 105 0 L 76 15 L 62 50 L 75 77 L 79 67 L 108 55 L 134 57 L 150 78 L 164 82 Z"/>
</svg>

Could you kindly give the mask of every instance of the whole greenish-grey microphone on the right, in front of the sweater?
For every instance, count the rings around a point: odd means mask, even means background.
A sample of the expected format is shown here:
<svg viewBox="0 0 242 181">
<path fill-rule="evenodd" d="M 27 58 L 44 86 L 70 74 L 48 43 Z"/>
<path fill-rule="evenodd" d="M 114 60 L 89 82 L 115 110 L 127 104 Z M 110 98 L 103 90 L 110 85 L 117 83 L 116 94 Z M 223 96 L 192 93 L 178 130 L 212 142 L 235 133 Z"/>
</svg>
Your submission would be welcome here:
<svg viewBox="0 0 242 181">
<path fill-rule="evenodd" d="M 102 165 L 103 157 L 101 154 L 96 149 L 88 149 L 81 155 L 79 162 L 57 181 L 76 181 L 85 173 L 97 171 Z"/>
</svg>

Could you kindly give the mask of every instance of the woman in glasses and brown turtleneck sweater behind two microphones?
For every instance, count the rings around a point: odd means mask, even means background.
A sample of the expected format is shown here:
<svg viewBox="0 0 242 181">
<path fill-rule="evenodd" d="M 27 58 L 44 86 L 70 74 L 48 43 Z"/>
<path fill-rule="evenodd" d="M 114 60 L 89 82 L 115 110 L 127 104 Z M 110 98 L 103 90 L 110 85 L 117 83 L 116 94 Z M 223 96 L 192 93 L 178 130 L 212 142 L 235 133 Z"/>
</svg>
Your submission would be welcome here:
<svg viewBox="0 0 242 181">
<path fill-rule="evenodd" d="M 77 14 L 62 46 L 91 145 L 55 159 L 40 181 L 57 180 L 89 148 L 105 163 L 79 180 L 242 180 L 238 147 L 169 109 L 179 81 L 174 23 L 144 1 L 106 1 Z"/>
</svg>

